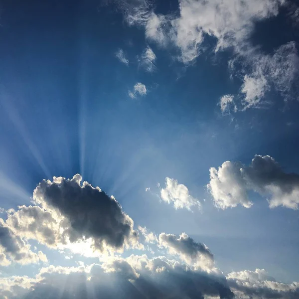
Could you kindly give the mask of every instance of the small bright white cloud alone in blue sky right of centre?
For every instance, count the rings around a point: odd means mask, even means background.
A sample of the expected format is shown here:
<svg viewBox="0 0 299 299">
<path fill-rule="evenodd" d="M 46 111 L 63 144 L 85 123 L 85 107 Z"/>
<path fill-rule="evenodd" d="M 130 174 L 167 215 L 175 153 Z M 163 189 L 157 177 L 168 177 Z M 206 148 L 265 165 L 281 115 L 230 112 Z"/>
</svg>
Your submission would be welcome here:
<svg viewBox="0 0 299 299">
<path fill-rule="evenodd" d="M 201 207 L 198 199 L 189 194 L 188 188 L 173 178 L 165 178 L 165 188 L 160 189 L 160 196 L 168 204 L 172 203 L 176 210 L 183 208 L 191 210 L 192 207 Z"/>
</svg>

